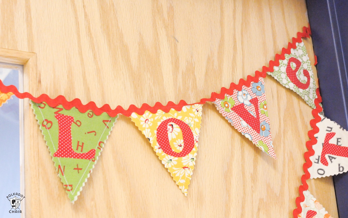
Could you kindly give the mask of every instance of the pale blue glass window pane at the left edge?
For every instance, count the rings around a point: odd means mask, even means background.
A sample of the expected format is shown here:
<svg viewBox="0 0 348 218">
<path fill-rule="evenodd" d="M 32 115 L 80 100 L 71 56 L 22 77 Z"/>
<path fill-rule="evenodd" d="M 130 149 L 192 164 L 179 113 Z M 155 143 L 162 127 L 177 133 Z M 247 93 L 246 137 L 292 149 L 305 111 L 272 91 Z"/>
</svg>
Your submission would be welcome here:
<svg viewBox="0 0 348 218">
<path fill-rule="evenodd" d="M 15 85 L 19 89 L 20 73 L 18 67 L 0 68 L 0 79 L 3 84 Z M 12 193 L 21 192 L 19 99 L 0 90 L 0 104 L 0 217 L 20 217 L 20 213 L 9 213 L 14 210 L 9 198 L 14 196 L 8 197 Z"/>
</svg>

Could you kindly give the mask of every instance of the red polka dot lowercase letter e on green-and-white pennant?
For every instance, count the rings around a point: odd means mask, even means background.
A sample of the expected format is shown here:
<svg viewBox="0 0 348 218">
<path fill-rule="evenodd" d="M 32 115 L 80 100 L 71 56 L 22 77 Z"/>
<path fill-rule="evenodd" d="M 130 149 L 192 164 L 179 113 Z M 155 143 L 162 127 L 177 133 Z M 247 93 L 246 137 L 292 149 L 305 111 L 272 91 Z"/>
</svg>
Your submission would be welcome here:
<svg viewBox="0 0 348 218">
<path fill-rule="evenodd" d="M 295 70 L 291 68 L 291 63 L 296 64 Z M 289 77 L 290 81 L 295 84 L 297 87 L 301 89 L 307 89 L 310 83 L 310 76 L 308 70 L 303 70 L 303 75 L 307 78 L 306 83 L 301 83 L 301 81 L 297 78 L 296 73 L 301 67 L 301 61 L 295 59 L 294 57 L 290 57 L 286 65 L 286 75 Z"/>
</svg>

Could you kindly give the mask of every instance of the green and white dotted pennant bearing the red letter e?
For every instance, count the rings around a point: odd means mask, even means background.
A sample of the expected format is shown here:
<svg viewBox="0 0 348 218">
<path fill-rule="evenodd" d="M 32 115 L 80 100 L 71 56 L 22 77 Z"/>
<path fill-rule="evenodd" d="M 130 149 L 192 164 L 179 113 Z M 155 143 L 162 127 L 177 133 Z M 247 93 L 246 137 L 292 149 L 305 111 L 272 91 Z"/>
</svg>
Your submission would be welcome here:
<svg viewBox="0 0 348 218">
<path fill-rule="evenodd" d="M 273 69 L 273 72 L 267 73 L 286 88 L 299 94 L 310 107 L 315 108 L 317 87 L 303 41 L 296 42 L 296 48 L 292 48 L 290 54 L 285 54 L 285 59 L 279 60 L 279 66 Z"/>
</svg>

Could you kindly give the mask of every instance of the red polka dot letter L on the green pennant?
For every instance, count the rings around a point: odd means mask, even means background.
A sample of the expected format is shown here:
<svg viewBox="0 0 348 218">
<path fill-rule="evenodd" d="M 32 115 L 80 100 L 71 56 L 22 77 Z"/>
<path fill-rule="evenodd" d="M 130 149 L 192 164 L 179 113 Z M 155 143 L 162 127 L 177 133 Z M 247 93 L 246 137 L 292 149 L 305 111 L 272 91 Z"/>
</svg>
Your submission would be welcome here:
<svg viewBox="0 0 348 218">
<path fill-rule="evenodd" d="M 92 159 L 95 156 L 95 149 L 86 153 L 76 153 L 71 145 L 71 124 L 74 121 L 72 116 L 56 114 L 54 117 L 58 120 L 58 150 L 53 154 L 54 157 L 67 157 L 77 159 Z"/>
</svg>

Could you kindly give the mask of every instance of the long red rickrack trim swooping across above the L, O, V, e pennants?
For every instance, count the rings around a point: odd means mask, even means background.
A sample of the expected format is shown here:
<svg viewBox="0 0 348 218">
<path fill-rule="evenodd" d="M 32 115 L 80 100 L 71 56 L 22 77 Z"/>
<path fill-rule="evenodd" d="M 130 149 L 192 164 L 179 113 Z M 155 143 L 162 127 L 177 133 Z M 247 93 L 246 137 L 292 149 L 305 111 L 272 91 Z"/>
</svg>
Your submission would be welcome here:
<svg viewBox="0 0 348 218">
<path fill-rule="evenodd" d="M 285 54 L 290 54 L 291 49 L 296 47 L 296 42 L 301 42 L 301 38 L 310 38 L 310 29 L 309 25 L 308 27 L 303 26 L 302 32 L 297 33 L 297 38 L 293 37 L 292 42 L 288 43 L 287 48 L 282 49 L 281 54 L 275 55 L 274 61 L 269 61 L 269 67 L 263 66 L 262 72 L 256 70 L 255 76 L 252 77 L 250 75 L 247 76 L 247 79 L 240 79 L 238 84 L 231 83 L 230 88 L 222 87 L 220 93 L 212 92 L 211 97 L 209 99 L 203 98 L 198 104 L 204 104 L 207 101 L 215 101 L 217 98 L 224 98 L 223 96 L 225 94 L 231 94 L 234 89 L 237 89 L 240 91 L 242 89 L 243 85 L 249 86 L 251 81 L 258 82 L 259 77 L 266 77 L 266 72 L 273 72 L 274 66 L 279 66 L 279 60 L 285 59 Z M 20 93 L 18 92 L 18 89 L 14 85 L 5 86 L 2 81 L 0 80 L 0 90 L 3 93 L 12 92 L 14 95 L 17 96 L 17 98 L 24 99 L 29 98 L 30 100 L 41 103 L 46 102 L 48 106 L 50 107 L 56 107 L 58 105 L 62 105 L 66 110 L 70 110 L 72 107 L 76 107 L 81 113 L 85 113 L 88 110 L 92 110 L 95 115 L 101 115 L 103 112 L 106 112 L 109 116 L 115 117 L 117 114 L 122 114 L 127 117 L 129 117 L 133 112 L 136 112 L 139 115 L 143 115 L 145 111 L 150 111 L 153 114 L 156 114 L 157 110 L 161 109 L 164 112 L 169 112 L 171 108 L 180 111 L 183 106 L 197 104 L 192 103 L 188 104 L 184 100 L 180 100 L 178 104 L 175 104 L 172 101 L 169 101 L 167 105 L 163 105 L 160 102 L 156 102 L 154 106 L 149 106 L 148 104 L 144 103 L 140 108 L 137 108 L 134 104 L 130 105 L 127 110 L 122 108 L 121 106 L 117 106 L 114 110 L 110 108 L 109 104 L 104 104 L 102 107 L 98 108 L 95 104 L 95 102 L 90 101 L 87 104 L 82 104 L 80 99 L 74 99 L 72 101 L 66 100 L 66 98 L 63 95 L 57 96 L 57 98 L 52 99 L 47 94 L 41 94 L 39 97 L 35 98 L 33 95 L 31 95 L 28 92 Z"/>
</svg>

